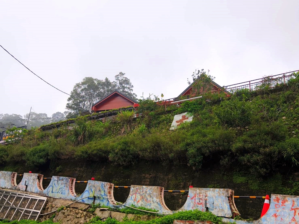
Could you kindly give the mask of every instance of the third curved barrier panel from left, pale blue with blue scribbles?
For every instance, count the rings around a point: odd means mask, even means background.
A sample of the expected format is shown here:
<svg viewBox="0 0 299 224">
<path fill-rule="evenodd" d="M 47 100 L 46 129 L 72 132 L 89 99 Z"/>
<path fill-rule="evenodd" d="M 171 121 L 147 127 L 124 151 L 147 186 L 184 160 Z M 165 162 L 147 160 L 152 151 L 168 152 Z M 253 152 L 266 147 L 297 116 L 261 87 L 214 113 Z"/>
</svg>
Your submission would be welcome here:
<svg viewBox="0 0 299 224">
<path fill-rule="evenodd" d="M 76 178 L 53 176 L 48 187 L 42 192 L 43 195 L 67 200 L 76 200 Z"/>
</svg>

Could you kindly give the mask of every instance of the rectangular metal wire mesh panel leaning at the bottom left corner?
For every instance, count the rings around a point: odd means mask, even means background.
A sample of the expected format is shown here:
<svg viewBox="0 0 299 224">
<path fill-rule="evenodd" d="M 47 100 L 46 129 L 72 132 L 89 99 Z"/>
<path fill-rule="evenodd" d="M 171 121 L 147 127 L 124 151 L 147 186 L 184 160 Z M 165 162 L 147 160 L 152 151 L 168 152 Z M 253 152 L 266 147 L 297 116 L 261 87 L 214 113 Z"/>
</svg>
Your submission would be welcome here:
<svg viewBox="0 0 299 224">
<path fill-rule="evenodd" d="M 37 220 L 47 198 L 0 190 L 0 219 Z"/>
</svg>

